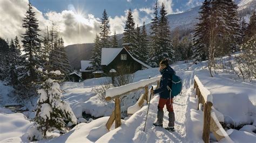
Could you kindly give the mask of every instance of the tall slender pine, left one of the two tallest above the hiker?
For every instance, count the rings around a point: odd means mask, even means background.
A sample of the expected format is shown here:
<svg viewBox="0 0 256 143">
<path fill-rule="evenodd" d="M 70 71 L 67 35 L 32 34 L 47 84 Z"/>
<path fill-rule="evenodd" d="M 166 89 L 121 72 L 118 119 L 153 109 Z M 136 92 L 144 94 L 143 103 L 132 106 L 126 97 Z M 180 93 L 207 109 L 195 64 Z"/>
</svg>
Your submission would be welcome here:
<svg viewBox="0 0 256 143">
<path fill-rule="evenodd" d="M 157 53 L 158 53 L 158 35 L 159 35 L 159 29 L 158 29 L 158 8 L 157 8 L 157 2 L 154 5 L 154 18 L 152 20 L 152 25 L 150 26 L 150 43 L 149 43 L 149 58 L 147 59 L 147 63 L 151 67 L 157 67 L 158 61 L 157 61 Z"/>
</svg>

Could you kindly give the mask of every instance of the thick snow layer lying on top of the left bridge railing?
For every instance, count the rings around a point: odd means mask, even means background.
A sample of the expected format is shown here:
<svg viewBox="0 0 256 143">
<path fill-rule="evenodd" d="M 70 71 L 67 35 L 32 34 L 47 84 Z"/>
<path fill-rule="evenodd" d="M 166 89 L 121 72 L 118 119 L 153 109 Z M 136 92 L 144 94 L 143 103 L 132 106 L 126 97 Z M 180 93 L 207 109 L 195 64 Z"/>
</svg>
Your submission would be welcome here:
<svg viewBox="0 0 256 143">
<path fill-rule="evenodd" d="M 160 80 L 160 76 L 157 76 L 157 77 L 150 78 L 148 80 L 141 80 L 139 82 L 134 82 L 134 83 L 120 86 L 120 87 L 111 88 L 111 89 L 106 90 L 106 97 L 112 98 L 117 95 L 122 95 L 125 92 L 131 91 L 133 89 L 137 89 L 140 87 L 145 87 L 146 85 L 157 82 L 159 80 Z"/>
</svg>

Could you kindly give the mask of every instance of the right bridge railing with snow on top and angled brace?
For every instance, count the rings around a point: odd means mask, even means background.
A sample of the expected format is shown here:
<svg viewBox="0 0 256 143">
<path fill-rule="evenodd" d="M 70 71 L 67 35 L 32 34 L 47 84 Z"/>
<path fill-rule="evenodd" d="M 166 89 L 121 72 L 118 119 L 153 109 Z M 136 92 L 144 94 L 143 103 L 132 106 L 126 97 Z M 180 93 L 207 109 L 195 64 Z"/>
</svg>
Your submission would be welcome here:
<svg viewBox="0 0 256 143">
<path fill-rule="evenodd" d="M 204 87 L 196 75 L 194 76 L 194 90 L 196 90 L 196 97 L 198 98 L 198 110 L 201 109 L 201 105 L 204 106 L 202 137 L 204 142 L 210 141 L 210 131 L 218 141 L 223 138 L 230 140 L 228 134 L 220 124 L 220 122 L 224 122 L 224 116 L 212 106 L 211 92 Z"/>
</svg>

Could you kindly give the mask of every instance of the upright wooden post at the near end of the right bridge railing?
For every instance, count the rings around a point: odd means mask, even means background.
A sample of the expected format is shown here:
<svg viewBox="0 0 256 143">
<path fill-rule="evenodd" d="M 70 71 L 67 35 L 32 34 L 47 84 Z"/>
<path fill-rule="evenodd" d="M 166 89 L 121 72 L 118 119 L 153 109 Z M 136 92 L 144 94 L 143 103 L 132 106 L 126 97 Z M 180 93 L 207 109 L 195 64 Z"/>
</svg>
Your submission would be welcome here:
<svg viewBox="0 0 256 143">
<path fill-rule="evenodd" d="M 212 103 L 207 102 L 204 104 L 204 127 L 203 127 L 203 140 L 210 142 L 210 122 L 211 122 Z"/>
</svg>

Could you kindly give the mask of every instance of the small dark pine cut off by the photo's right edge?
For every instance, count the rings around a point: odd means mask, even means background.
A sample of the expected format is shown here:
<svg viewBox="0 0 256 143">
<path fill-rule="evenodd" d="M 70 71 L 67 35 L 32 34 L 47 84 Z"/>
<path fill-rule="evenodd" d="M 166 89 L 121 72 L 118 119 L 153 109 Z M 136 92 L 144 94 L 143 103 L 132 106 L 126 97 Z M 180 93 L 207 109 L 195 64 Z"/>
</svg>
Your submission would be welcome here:
<svg viewBox="0 0 256 143">
<path fill-rule="evenodd" d="M 256 16 L 255 10 L 252 12 L 252 16 L 250 17 L 250 22 L 247 27 L 246 37 L 247 39 L 251 39 L 256 34 Z"/>
</svg>

